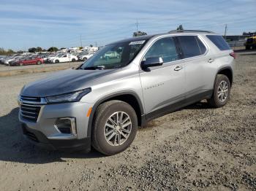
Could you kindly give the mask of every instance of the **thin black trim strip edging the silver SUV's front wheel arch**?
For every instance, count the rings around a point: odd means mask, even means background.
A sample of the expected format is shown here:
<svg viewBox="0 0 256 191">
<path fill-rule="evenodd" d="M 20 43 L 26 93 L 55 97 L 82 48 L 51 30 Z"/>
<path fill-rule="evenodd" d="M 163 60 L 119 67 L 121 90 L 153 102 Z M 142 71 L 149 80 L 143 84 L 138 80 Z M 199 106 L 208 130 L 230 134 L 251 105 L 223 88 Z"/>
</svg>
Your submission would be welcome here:
<svg viewBox="0 0 256 191">
<path fill-rule="evenodd" d="M 110 95 L 106 95 L 103 98 L 100 98 L 92 107 L 91 114 L 89 117 L 89 123 L 88 123 L 88 127 L 87 127 L 87 137 L 91 137 L 91 128 L 92 128 L 94 113 L 95 113 L 97 107 L 99 106 L 99 104 L 102 104 L 104 101 L 107 101 L 108 99 L 114 98 L 119 95 L 133 95 L 136 98 L 136 100 L 138 101 L 138 104 L 140 106 L 141 123 L 144 124 L 145 115 L 144 115 L 143 104 L 140 101 L 140 98 L 137 93 L 135 93 L 134 91 L 131 91 L 131 90 L 125 90 L 125 91 L 121 91 L 121 92 L 117 92 L 117 93 L 111 93 Z"/>
</svg>

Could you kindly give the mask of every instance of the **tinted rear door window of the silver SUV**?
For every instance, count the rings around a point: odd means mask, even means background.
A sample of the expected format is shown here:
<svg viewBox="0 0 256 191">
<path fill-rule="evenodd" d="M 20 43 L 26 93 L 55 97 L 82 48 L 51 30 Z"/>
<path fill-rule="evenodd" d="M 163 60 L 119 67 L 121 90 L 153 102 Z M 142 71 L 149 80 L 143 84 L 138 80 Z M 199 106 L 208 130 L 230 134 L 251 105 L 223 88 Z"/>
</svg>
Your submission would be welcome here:
<svg viewBox="0 0 256 191">
<path fill-rule="evenodd" d="M 183 58 L 203 55 L 206 52 L 206 47 L 197 36 L 177 36 L 176 38 L 180 44 Z"/>
</svg>

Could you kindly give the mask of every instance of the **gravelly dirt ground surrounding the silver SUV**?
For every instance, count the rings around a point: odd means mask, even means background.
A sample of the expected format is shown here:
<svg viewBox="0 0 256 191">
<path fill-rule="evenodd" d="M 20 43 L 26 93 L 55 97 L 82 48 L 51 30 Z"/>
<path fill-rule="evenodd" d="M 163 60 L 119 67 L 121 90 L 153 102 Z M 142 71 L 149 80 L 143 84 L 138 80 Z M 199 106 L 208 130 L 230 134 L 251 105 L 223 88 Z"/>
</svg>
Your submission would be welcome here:
<svg viewBox="0 0 256 191">
<path fill-rule="evenodd" d="M 201 102 L 160 117 L 111 157 L 23 139 L 16 96 L 45 75 L 0 78 L 0 190 L 256 190 L 256 55 L 238 56 L 225 107 Z"/>
</svg>

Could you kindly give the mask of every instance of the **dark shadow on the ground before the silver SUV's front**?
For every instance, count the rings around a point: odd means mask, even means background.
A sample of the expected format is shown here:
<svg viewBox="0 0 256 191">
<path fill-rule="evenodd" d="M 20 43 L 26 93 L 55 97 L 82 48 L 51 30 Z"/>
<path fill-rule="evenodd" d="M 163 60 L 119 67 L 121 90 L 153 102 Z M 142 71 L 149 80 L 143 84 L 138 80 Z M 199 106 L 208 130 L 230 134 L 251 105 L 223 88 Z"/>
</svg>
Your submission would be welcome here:
<svg viewBox="0 0 256 191">
<path fill-rule="evenodd" d="M 59 152 L 41 149 L 23 137 L 18 120 L 18 107 L 9 114 L 0 117 L 0 160 L 17 163 L 53 163 L 65 162 L 64 158 L 105 157 L 94 149 L 85 152 Z"/>
</svg>

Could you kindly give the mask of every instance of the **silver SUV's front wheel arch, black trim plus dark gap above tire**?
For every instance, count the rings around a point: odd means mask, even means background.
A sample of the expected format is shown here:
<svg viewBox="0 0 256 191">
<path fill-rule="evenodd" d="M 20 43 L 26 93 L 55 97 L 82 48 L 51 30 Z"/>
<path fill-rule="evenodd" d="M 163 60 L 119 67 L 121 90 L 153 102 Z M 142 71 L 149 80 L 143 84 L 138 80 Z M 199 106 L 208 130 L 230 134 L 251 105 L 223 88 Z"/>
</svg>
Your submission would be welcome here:
<svg viewBox="0 0 256 191">
<path fill-rule="evenodd" d="M 125 91 L 125 92 L 120 92 L 120 93 L 113 93 L 110 95 L 106 95 L 103 98 L 100 98 L 92 107 L 91 114 L 89 117 L 89 123 L 88 123 L 88 128 L 87 128 L 87 136 L 91 136 L 91 128 L 93 125 L 94 121 L 94 114 L 96 112 L 97 107 L 100 104 L 105 103 L 106 101 L 110 100 L 119 100 L 119 101 L 124 101 L 130 106 L 132 106 L 133 109 L 135 109 L 136 115 L 138 117 L 138 125 L 142 125 L 144 120 L 144 110 L 143 110 L 143 104 L 140 101 L 139 96 L 137 93 L 132 92 L 132 91 Z"/>
</svg>

